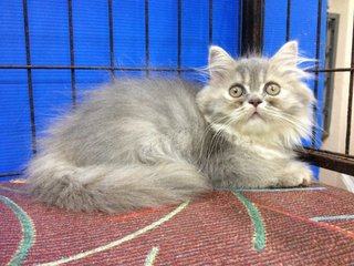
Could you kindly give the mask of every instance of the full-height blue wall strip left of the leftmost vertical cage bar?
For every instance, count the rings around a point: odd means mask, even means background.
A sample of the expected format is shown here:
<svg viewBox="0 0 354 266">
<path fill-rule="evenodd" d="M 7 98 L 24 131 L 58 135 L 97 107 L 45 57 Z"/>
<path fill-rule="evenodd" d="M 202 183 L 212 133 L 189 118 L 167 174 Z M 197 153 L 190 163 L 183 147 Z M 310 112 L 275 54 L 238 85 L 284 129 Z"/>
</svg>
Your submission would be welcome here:
<svg viewBox="0 0 354 266">
<path fill-rule="evenodd" d="M 0 1 L 0 64 L 25 64 L 22 1 Z M 18 172 L 31 155 L 25 70 L 0 70 L 0 174 Z"/>
</svg>

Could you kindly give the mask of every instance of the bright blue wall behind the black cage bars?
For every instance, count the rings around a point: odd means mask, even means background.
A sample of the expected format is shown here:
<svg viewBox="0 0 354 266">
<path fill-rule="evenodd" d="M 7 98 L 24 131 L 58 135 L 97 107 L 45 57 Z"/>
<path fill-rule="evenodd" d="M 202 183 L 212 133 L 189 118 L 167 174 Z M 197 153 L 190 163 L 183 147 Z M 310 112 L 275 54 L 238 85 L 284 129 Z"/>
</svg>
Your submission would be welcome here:
<svg viewBox="0 0 354 266">
<path fill-rule="evenodd" d="M 110 66 L 108 1 L 72 2 L 75 65 Z M 145 7 L 144 0 L 113 1 L 115 66 L 178 68 L 178 1 L 149 0 L 148 2 L 148 7 Z M 239 1 L 214 0 L 212 2 L 211 41 L 236 57 L 239 54 Z M 285 41 L 287 2 L 287 0 L 266 0 L 266 53 L 271 54 Z M 317 1 L 293 0 L 292 2 L 291 39 L 298 39 L 305 54 L 313 57 Z M 323 14 L 325 14 L 324 7 L 323 3 Z M 148 18 L 145 17 L 146 8 Z M 180 9 L 180 66 L 202 68 L 207 64 L 210 38 L 209 1 L 181 0 Z M 0 65 L 25 65 L 22 0 L 1 0 L 0 10 Z M 70 65 L 67 1 L 28 0 L 28 17 L 31 63 Z M 148 37 L 146 37 L 146 19 Z M 164 73 L 166 72 L 149 72 L 150 75 Z M 175 75 L 177 71 L 168 73 Z M 45 124 L 60 112 L 61 108 L 70 106 L 72 103 L 71 70 L 37 69 L 32 70 L 31 74 L 35 130 L 37 136 L 40 136 Z M 115 74 L 142 76 L 146 73 L 136 70 L 115 71 Z M 181 76 L 197 79 L 192 72 L 181 72 Z M 79 98 L 84 90 L 106 82 L 110 78 L 111 72 L 107 70 L 75 70 Z M 321 103 L 322 94 L 319 96 Z M 0 69 L 0 175 L 21 171 L 32 155 L 29 102 L 27 70 Z"/>
</svg>

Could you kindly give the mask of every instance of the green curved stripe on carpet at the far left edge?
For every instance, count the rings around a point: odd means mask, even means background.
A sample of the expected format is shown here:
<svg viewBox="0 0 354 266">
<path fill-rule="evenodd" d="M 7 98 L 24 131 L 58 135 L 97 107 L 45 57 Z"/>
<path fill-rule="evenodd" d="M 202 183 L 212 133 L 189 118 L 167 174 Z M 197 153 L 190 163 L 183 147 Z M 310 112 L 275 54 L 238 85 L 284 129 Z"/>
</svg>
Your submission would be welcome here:
<svg viewBox="0 0 354 266">
<path fill-rule="evenodd" d="M 34 227 L 31 218 L 19 205 L 17 205 L 10 198 L 2 195 L 0 195 L 0 200 L 11 208 L 11 211 L 17 215 L 21 223 L 22 239 L 17 253 L 9 263 L 9 265 L 11 266 L 21 265 L 24 262 L 27 254 L 34 242 Z"/>
</svg>

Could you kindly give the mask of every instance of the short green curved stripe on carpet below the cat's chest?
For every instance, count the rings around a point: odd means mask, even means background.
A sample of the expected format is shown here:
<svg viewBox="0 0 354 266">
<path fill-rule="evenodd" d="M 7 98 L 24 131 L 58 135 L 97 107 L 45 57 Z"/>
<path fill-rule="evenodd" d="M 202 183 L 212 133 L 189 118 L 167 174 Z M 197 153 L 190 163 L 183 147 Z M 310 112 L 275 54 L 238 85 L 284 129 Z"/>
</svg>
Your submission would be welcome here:
<svg viewBox="0 0 354 266">
<path fill-rule="evenodd" d="M 240 192 L 232 191 L 244 205 L 253 225 L 253 247 L 256 250 L 263 250 L 266 247 L 266 227 L 258 208 Z"/>
</svg>

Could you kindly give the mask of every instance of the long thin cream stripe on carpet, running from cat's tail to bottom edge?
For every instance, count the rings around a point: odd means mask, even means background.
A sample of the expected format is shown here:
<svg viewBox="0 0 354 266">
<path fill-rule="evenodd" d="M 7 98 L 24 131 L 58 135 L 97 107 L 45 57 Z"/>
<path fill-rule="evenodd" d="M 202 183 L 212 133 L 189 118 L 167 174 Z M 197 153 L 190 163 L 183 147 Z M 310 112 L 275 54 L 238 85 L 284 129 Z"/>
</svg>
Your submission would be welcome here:
<svg viewBox="0 0 354 266">
<path fill-rule="evenodd" d="M 51 263 L 44 263 L 44 264 L 39 264 L 39 265 L 48 265 L 48 266 L 52 266 L 52 265 L 60 265 L 60 264 L 63 264 L 63 263 L 69 263 L 69 262 L 73 262 L 73 260 L 76 260 L 76 259 L 80 259 L 80 258 L 83 258 L 83 257 L 86 257 L 86 256 L 90 256 L 90 255 L 93 255 L 95 253 L 100 253 L 100 252 L 104 252 L 106 249 L 110 249 L 112 247 L 115 247 L 115 246 L 118 246 L 121 245 L 122 243 L 125 243 L 125 242 L 128 242 L 128 241 L 132 241 L 134 239 L 135 237 L 150 231 L 150 229 L 154 229 L 156 228 L 157 226 L 164 224 L 165 222 L 169 221 L 170 218 L 173 218 L 176 214 L 178 214 L 179 212 L 181 212 L 185 207 L 187 207 L 187 205 L 189 204 L 189 201 L 188 202 L 185 202 L 183 204 L 180 204 L 177 208 L 175 208 L 173 212 L 170 212 L 169 214 L 165 215 L 163 218 L 149 224 L 148 226 L 142 228 L 142 229 L 138 229 L 123 238 L 119 238 L 117 241 L 114 241 L 114 242 L 111 242 L 108 243 L 107 245 L 103 245 L 103 246 L 100 246 L 100 247 L 96 247 L 96 248 L 93 248 L 91 250 L 86 250 L 86 252 L 83 252 L 83 253 L 79 253 L 76 255 L 73 255 L 73 256 L 70 256 L 70 257 L 64 257 L 64 258 L 61 258 L 59 260 L 54 260 L 54 262 L 51 262 Z"/>
</svg>

